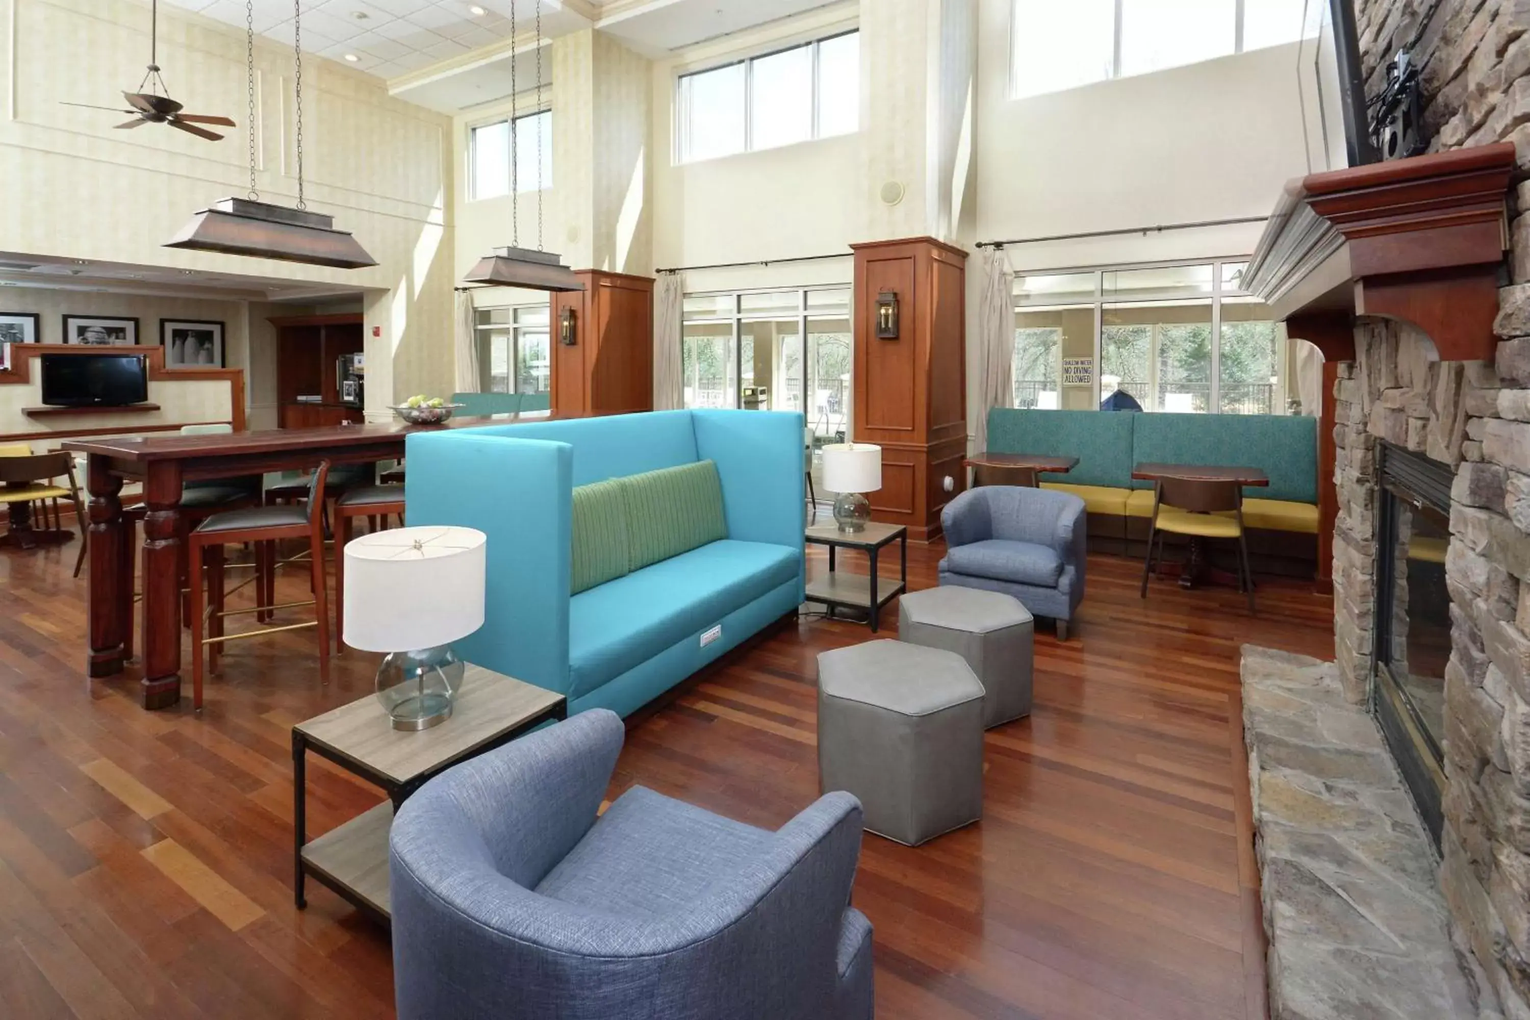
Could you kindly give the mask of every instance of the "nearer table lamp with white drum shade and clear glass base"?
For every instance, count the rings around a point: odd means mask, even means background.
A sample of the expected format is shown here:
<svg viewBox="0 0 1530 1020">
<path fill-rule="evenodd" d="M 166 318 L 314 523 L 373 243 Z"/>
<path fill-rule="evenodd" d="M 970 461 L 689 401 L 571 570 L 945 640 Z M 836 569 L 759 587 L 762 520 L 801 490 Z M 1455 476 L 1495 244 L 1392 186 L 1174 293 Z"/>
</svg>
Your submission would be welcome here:
<svg viewBox="0 0 1530 1020">
<path fill-rule="evenodd" d="M 488 537 L 473 528 L 395 528 L 346 544 L 346 644 L 386 651 L 376 696 L 395 729 L 451 716 L 464 664 L 451 642 L 483 625 Z"/>
</svg>

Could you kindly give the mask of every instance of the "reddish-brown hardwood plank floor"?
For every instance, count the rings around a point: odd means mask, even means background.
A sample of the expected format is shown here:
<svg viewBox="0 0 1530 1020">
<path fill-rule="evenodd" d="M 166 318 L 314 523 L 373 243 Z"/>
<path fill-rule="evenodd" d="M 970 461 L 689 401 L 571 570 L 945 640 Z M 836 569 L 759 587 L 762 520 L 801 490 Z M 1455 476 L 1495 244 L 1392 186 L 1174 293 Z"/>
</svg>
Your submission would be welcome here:
<svg viewBox="0 0 1530 1020">
<path fill-rule="evenodd" d="M 915 587 L 938 557 L 910 547 Z M 0 555 L 0 1014 L 392 1015 L 386 936 L 317 885 L 294 910 L 289 885 L 289 728 L 366 694 L 375 659 L 347 653 L 324 690 L 312 632 L 237 642 L 202 717 L 145 713 L 136 676 L 83 674 L 72 564 Z M 1279 580 L 1255 618 L 1224 589 L 1140 601 L 1138 569 L 1091 558 L 1076 636 L 1037 635 L 1036 711 L 987 736 L 981 824 L 866 836 L 878 1017 L 1264 1015 L 1238 647 L 1331 656 L 1331 603 Z M 786 821 L 817 795 L 814 655 L 869 636 L 803 618 L 725 659 L 630 729 L 612 797 Z M 378 800 L 309 780 L 315 833 Z"/>
</svg>

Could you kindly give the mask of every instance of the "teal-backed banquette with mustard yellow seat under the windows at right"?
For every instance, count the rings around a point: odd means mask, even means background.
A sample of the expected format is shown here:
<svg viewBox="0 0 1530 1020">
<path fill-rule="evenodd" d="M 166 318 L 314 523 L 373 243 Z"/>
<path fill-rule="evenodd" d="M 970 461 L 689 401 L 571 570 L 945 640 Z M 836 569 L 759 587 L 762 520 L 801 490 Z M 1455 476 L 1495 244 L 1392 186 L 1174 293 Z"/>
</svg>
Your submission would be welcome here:
<svg viewBox="0 0 1530 1020">
<path fill-rule="evenodd" d="M 988 411 L 988 450 L 1079 457 L 1068 474 L 1042 476 L 1045 489 L 1073 492 L 1089 514 L 1091 540 L 1148 538 L 1152 482 L 1132 479 L 1138 463 L 1200 463 L 1259 468 L 1268 488 L 1244 489 L 1244 523 L 1267 532 L 1255 549 L 1297 560 L 1307 573 L 1317 535 L 1317 419 L 1268 414 L 1157 414 Z M 1125 544 L 1121 551 L 1131 551 Z M 1265 564 L 1267 567 L 1270 564 Z M 1278 567 L 1279 569 L 1279 567 Z"/>
</svg>

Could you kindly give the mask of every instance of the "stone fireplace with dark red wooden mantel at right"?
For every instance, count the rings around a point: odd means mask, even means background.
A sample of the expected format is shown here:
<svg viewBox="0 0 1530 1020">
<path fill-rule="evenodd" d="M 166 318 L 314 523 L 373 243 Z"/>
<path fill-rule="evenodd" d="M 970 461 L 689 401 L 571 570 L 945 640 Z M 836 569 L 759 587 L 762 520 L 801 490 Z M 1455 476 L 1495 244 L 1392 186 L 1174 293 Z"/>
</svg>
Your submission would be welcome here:
<svg viewBox="0 0 1530 1020">
<path fill-rule="evenodd" d="M 1530 0 L 1354 6 L 1369 93 L 1415 43 L 1432 154 L 1297 182 L 1245 280 L 1323 350 L 1333 387 L 1320 509 L 1336 662 L 1322 676 L 1371 711 L 1438 847 L 1426 873 L 1483 1015 L 1530 1020 Z M 1253 717 L 1302 700 L 1297 685 L 1247 685 Z M 1261 768 L 1304 781 L 1253 729 Z M 1323 778 L 1304 789 L 1353 794 Z M 1278 866 L 1267 885 L 1291 888 L 1282 824 L 1261 864 Z M 1304 835 L 1307 849 L 1320 838 Z M 1331 907 L 1345 875 L 1297 887 Z M 1267 890 L 1267 927 L 1271 913 L 1296 924 L 1290 902 L 1268 904 Z"/>
</svg>

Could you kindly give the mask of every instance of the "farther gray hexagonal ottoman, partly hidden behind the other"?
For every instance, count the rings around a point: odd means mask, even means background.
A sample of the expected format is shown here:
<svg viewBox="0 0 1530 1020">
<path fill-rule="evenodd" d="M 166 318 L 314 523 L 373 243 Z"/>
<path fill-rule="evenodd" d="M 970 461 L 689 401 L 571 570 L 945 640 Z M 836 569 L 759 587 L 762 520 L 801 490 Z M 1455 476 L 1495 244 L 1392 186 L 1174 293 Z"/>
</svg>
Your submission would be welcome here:
<svg viewBox="0 0 1530 1020">
<path fill-rule="evenodd" d="M 898 641 L 955 651 L 982 682 L 982 725 L 1031 714 L 1036 624 L 1013 595 L 930 587 L 898 599 Z"/>
</svg>

